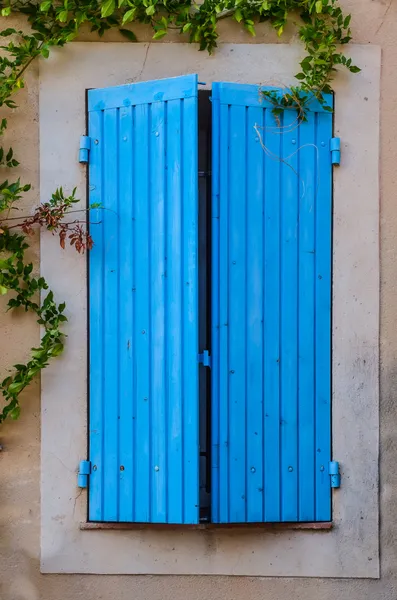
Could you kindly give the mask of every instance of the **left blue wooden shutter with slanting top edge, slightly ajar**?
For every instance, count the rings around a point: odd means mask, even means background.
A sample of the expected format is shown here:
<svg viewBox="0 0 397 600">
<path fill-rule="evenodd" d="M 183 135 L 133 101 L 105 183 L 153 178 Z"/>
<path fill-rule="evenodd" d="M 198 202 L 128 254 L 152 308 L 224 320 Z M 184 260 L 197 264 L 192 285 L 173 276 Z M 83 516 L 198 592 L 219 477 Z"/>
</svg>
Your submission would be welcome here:
<svg viewBox="0 0 397 600">
<path fill-rule="evenodd" d="M 89 519 L 197 523 L 197 78 L 88 111 Z"/>
</svg>

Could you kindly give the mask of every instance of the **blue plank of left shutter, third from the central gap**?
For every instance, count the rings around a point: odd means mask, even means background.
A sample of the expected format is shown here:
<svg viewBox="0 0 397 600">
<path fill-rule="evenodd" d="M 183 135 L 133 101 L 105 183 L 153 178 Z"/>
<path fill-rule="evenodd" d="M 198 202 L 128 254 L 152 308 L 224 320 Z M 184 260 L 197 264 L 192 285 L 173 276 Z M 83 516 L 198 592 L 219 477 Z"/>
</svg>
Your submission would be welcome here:
<svg viewBox="0 0 397 600">
<path fill-rule="evenodd" d="M 167 447 L 165 386 L 165 119 L 161 102 L 152 104 L 150 128 L 150 378 L 151 378 L 151 485 L 153 523 L 167 521 Z"/>
</svg>

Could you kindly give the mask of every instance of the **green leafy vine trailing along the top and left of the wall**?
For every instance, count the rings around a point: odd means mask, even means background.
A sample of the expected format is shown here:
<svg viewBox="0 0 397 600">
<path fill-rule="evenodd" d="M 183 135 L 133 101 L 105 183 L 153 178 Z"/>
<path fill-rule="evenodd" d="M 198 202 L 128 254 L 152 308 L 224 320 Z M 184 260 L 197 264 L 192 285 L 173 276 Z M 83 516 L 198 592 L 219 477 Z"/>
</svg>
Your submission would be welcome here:
<svg viewBox="0 0 397 600">
<path fill-rule="evenodd" d="M 133 23 L 145 23 L 153 28 L 153 38 L 159 40 L 170 29 L 177 29 L 188 36 L 190 42 L 199 44 L 200 50 L 210 53 L 217 45 L 217 24 L 226 17 L 241 23 L 255 35 L 255 25 L 269 21 L 278 35 L 283 33 L 288 19 L 297 21 L 299 37 L 307 56 L 301 61 L 296 78 L 299 85 L 284 93 L 263 91 L 273 104 L 276 117 L 283 110 L 298 110 L 298 118 L 304 120 L 305 105 L 314 95 L 324 103 L 323 94 L 331 92 L 331 82 L 338 65 L 357 73 L 360 69 L 352 64 L 339 49 L 351 39 L 350 15 L 345 16 L 337 0 L 204 0 L 196 5 L 191 0 L 3 0 L 1 14 L 26 15 L 31 33 L 6 28 L 0 37 L 7 39 L 0 58 L 0 107 L 16 108 L 12 96 L 24 87 L 24 72 L 30 63 L 42 56 L 48 58 L 51 46 L 64 46 L 79 33 L 82 25 L 100 36 L 111 28 L 117 28 L 130 41 L 137 41 L 131 30 Z M 128 29 L 126 28 L 128 26 Z M 7 128 L 7 120 L 0 122 L 0 135 Z M 12 148 L 0 148 L 0 167 L 12 169 L 18 166 Z M 12 294 L 8 307 L 33 311 L 38 323 L 44 328 L 40 346 L 33 348 L 27 364 L 14 365 L 14 372 L 0 384 L 5 405 L 0 412 L 0 423 L 7 416 L 16 419 L 20 413 L 19 395 L 32 379 L 58 356 L 64 347 L 62 324 L 67 320 L 65 304 L 57 304 L 49 291 L 42 304 L 37 296 L 48 285 L 43 277 L 33 277 L 33 264 L 26 262 L 29 235 L 35 226 L 45 227 L 59 235 L 60 244 L 65 241 L 74 245 L 78 252 L 92 247 L 86 220 L 65 221 L 77 202 L 75 191 L 65 196 L 62 188 L 56 190 L 50 200 L 36 208 L 33 216 L 18 217 L 13 212 L 29 184 L 20 180 L 0 183 L 0 295 Z M 93 207 L 91 207 L 93 208 Z M 81 212 L 81 211 L 80 211 Z"/>
</svg>

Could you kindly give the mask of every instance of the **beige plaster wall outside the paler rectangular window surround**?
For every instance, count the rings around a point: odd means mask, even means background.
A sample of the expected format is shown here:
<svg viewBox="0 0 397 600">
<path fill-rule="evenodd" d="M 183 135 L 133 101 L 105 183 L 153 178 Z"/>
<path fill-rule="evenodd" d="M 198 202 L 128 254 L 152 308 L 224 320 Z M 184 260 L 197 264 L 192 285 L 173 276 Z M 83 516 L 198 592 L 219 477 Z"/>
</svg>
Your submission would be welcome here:
<svg viewBox="0 0 397 600">
<path fill-rule="evenodd" d="M 0 600 L 276 600 L 397 598 L 397 4 L 393 0 L 343 0 L 353 14 L 354 41 L 380 45 L 383 51 L 381 104 L 381 579 L 316 580 L 228 577 L 78 576 L 39 573 L 39 385 L 25 394 L 17 424 L 0 430 Z M 224 41 L 250 41 L 237 25 L 222 24 Z M 287 33 L 282 41 L 288 42 Z M 92 38 L 91 38 L 92 39 Z M 111 34 L 106 40 L 119 39 Z M 142 31 L 141 41 L 148 39 Z M 266 25 L 254 43 L 275 42 Z M 21 158 L 21 177 L 33 183 L 37 202 L 37 70 L 30 69 L 27 89 L 12 117 L 13 147 Z M 14 141 L 15 140 L 15 141 Z M 347 199 L 348 201 L 348 199 Z M 26 206 L 29 211 L 29 205 Z M 33 257 L 38 255 L 33 243 Z M 0 313 L 1 314 L 1 313 Z M 0 372 L 27 356 L 37 344 L 38 327 L 28 316 L 0 317 Z M 365 457 L 363 457 L 365 460 Z"/>
</svg>

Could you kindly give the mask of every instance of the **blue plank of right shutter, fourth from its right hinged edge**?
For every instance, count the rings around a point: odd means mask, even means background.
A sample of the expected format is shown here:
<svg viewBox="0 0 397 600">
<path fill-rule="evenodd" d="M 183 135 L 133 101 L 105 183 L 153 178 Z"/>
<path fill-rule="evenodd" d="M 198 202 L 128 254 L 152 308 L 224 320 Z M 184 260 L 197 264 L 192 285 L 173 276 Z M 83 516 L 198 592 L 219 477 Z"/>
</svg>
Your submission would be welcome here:
<svg viewBox="0 0 397 600">
<path fill-rule="evenodd" d="M 283 124 L 281 116 L 281 126 Z M 265 111 L 264 223 L 264 520 L 281 519 L 280 488 L 280 264 L 281 264 L 281 130 Z"/>
</svg>

